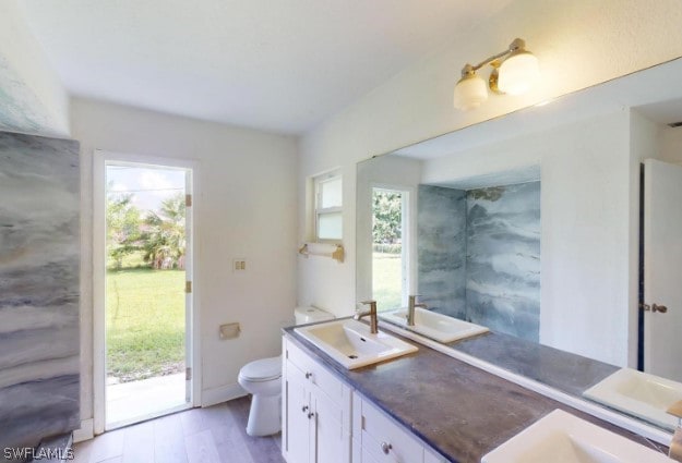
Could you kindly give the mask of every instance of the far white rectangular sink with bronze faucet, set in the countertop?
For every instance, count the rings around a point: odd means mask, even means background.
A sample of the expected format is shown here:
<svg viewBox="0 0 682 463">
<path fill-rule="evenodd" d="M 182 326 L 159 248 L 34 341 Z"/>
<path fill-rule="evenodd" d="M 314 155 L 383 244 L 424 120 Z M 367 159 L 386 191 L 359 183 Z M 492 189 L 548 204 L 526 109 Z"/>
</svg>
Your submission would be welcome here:
<svg viewBox="0 0 682 463">
<path fill-rule="evenodd" d="M 371 334 L 368 325 L 354 319 L 327 321 L 295 328 L 294 331 L 348 369 L 418 351 L 416 345 L 400 341 L 383 331 Z"/>
</svg>

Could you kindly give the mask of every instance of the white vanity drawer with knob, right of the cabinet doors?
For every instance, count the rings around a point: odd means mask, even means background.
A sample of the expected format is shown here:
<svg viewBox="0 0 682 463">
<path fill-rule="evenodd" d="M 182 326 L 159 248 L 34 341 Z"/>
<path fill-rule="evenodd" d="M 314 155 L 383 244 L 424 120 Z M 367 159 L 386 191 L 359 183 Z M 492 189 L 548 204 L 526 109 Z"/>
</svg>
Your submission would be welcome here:
<svg viewBox="0 0 682 463">
<path fill-rule="evenodd" d="M 366 454 L 376 463 L 423 462 L 421 442 L 367 400 L 362 400 L 361 440 L 363 462 Z"/>
</svg>

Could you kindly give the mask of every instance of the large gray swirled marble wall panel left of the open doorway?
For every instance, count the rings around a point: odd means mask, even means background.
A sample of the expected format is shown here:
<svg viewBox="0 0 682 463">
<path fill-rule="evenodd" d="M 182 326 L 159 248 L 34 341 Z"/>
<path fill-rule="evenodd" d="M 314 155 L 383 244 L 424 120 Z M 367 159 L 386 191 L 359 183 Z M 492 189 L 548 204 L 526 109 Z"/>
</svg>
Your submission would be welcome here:
<svg viewBox="0 0 682 463">
<path fill-rule="evenodd" d="M 80 426 L 77 142 L 0 132 L 0 449 Z"/>
</svg>

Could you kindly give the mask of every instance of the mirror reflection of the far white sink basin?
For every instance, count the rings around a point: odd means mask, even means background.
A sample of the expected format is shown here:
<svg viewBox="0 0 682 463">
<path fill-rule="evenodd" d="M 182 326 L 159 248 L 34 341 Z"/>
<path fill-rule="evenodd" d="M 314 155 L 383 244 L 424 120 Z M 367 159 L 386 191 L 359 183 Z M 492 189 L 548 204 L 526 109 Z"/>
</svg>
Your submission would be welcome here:
<svg viewBox="0 0 682 463">
<path fill-rule="evenodd" d="M 411 327 L 407 326 L 407 308 L 384 312 L 379 314 L 379 317 L 439 342 L 453 342 L 489 331 L 488 328 L 480 325 L 470 324 L 421 307 L 415 308 L 415 325 Z"/>
</svg>

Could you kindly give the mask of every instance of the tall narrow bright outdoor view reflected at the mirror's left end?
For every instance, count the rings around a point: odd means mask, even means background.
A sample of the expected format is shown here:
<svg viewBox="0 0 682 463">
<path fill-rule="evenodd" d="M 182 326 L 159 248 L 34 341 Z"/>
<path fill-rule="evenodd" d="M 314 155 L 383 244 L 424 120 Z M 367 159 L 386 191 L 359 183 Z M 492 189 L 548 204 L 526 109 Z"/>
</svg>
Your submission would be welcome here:
<svg viewBox="0 0 682 463">
<path fill-rule="evenodd" d="M 379 310 L 407 304 L 408 192 L 372 188 L 372 298 Z"/>
</svg>

